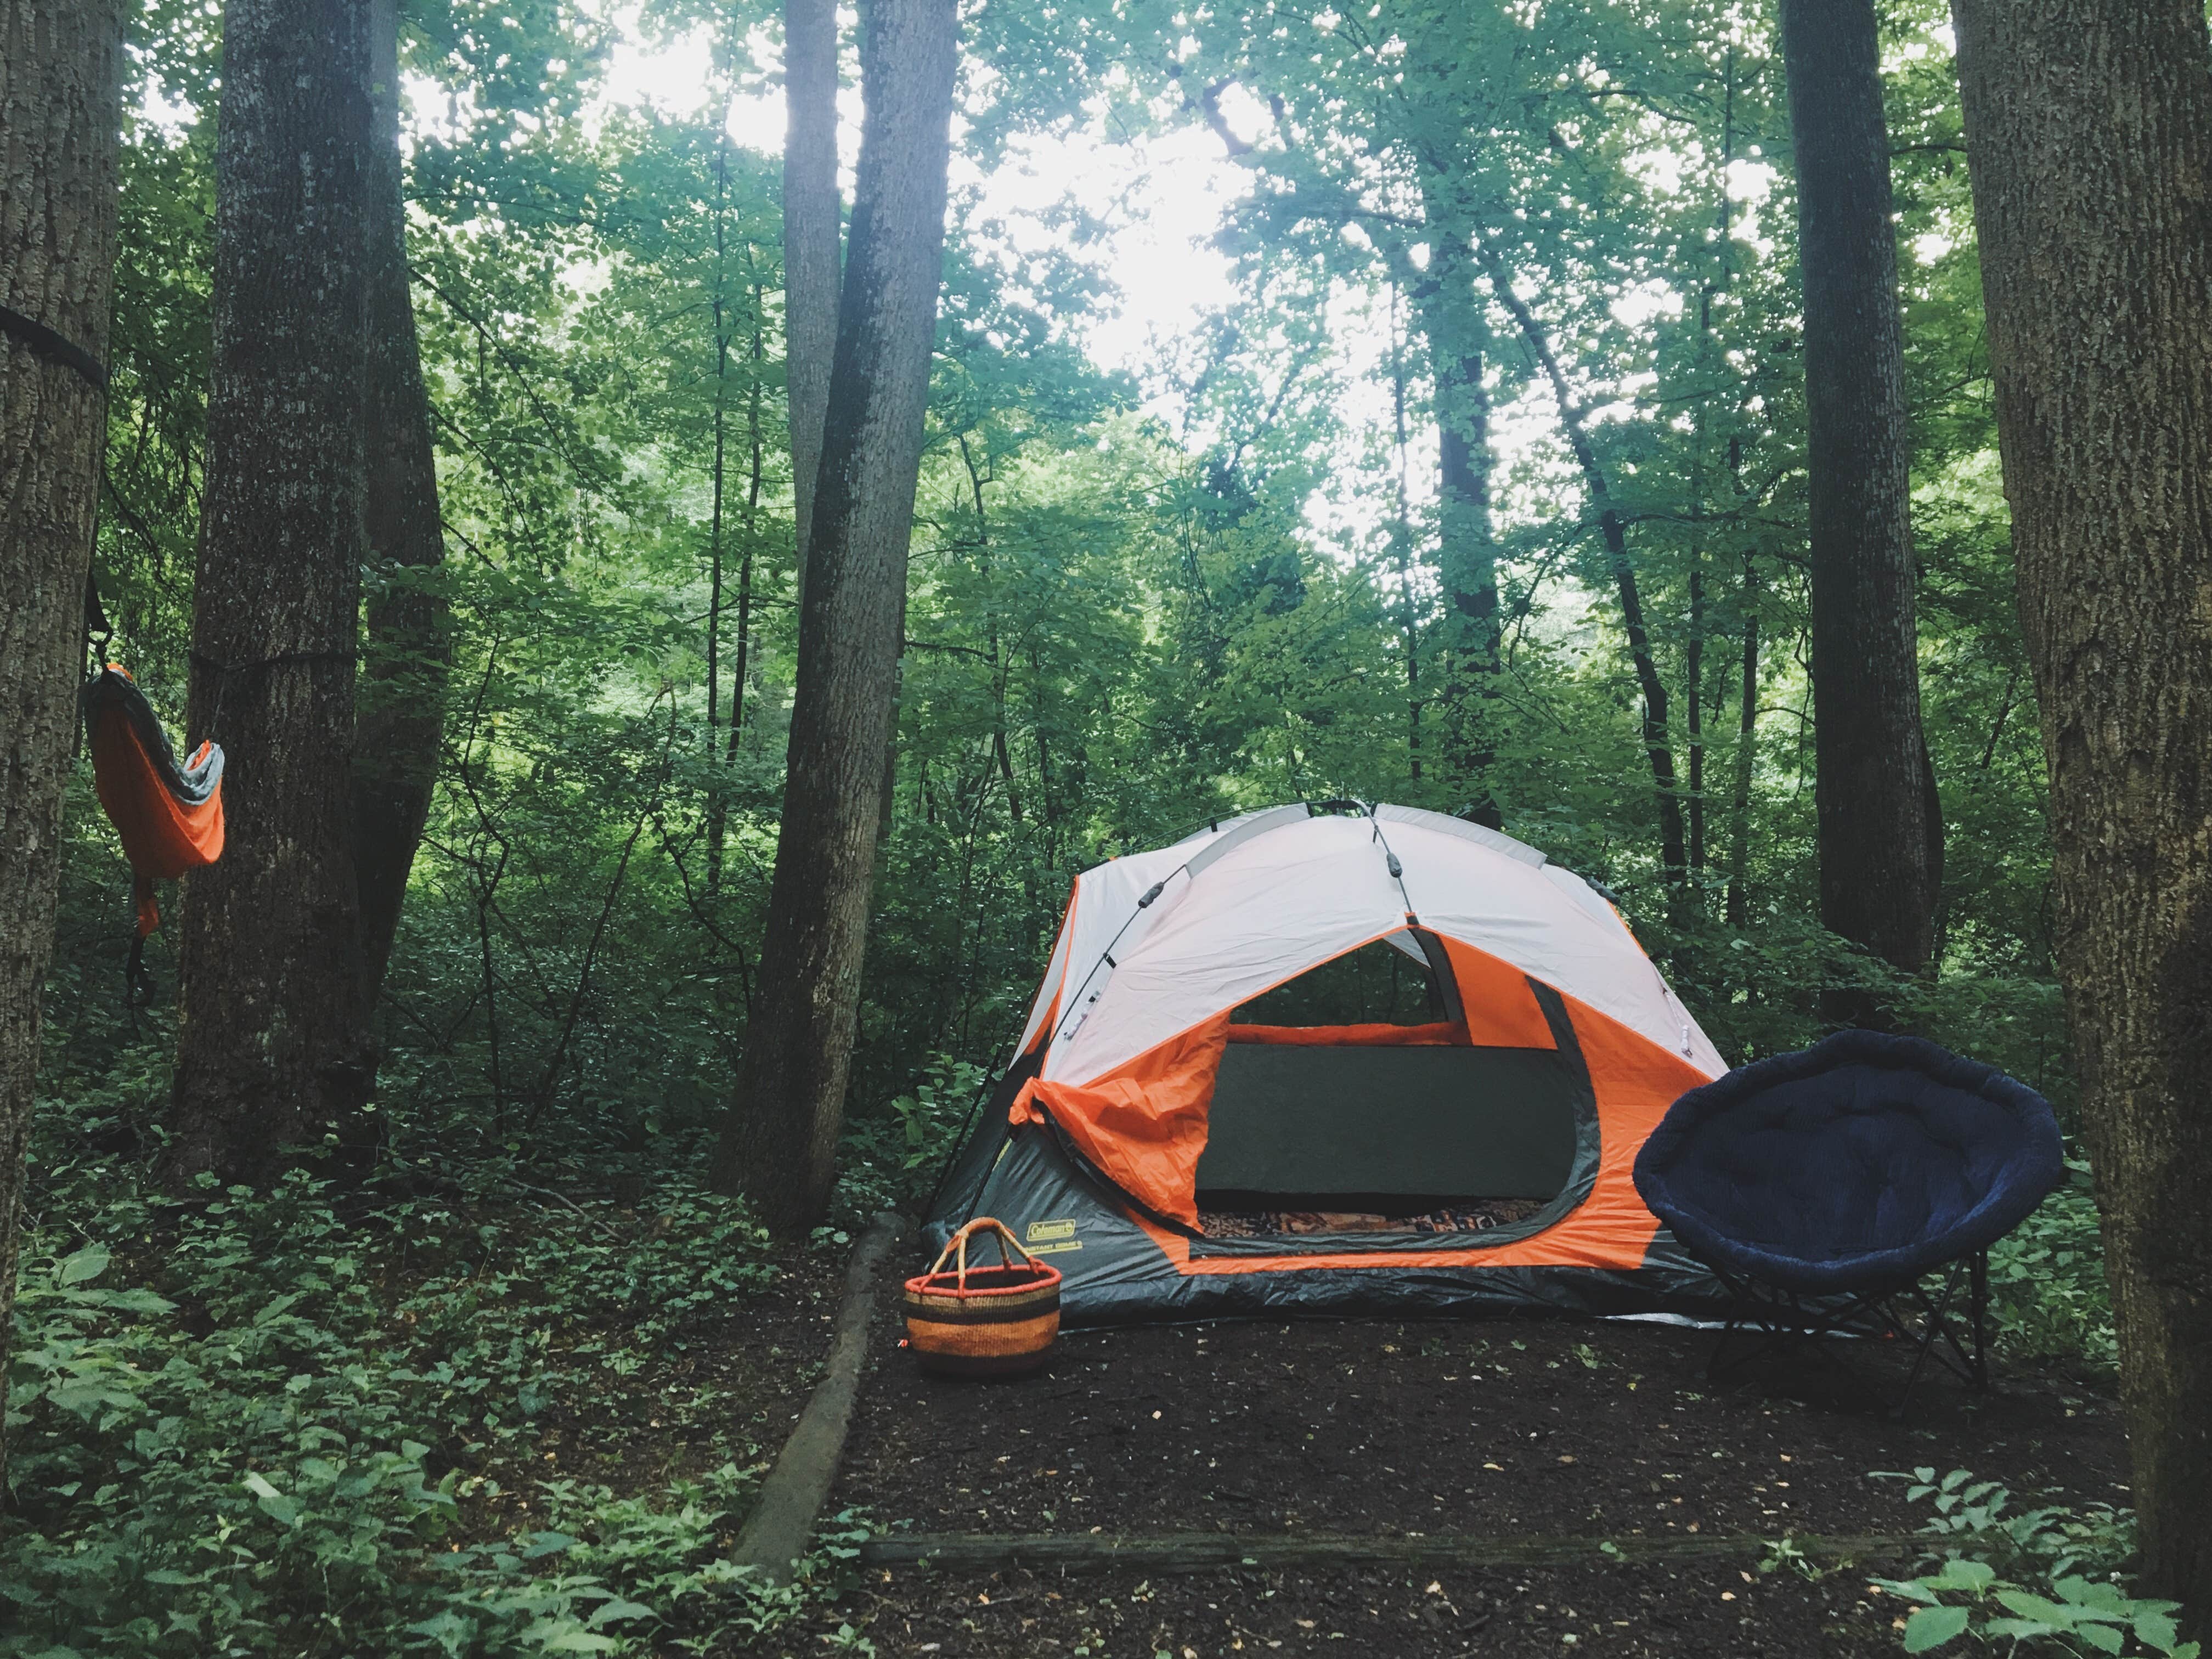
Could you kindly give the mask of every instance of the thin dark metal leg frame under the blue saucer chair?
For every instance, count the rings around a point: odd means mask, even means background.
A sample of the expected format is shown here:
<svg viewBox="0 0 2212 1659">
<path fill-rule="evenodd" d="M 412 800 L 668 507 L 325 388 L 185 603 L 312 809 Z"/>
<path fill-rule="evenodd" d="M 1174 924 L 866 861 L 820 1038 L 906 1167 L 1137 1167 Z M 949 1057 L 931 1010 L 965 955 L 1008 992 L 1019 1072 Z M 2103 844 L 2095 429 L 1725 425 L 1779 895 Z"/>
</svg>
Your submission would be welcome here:
<svg viewBox="0 0 2212 1659">
<path fill-rule="evenodd" d="M 1816 1336 L 1876 1336 L 1913 1345 L 1913 1367 L 1891 1411 L 1905 1411 L 1929 1358 L 1969 1387 L 1989 1387 L 1989 1252 L 1984 1250 L 1944 1267 L 1942 1283 L 1933 1292 L 1924 1279 L 1916 1279 L 1849 1296 L 1803 1296 L 1730 1267 L 1712 1265 L 1712 1272 L 1728 1285 L 1732 1307 L 1721 1340 L 1705 1363 L 1708 1378 Z M 1958 1310 L 1960 1287 L 1966 1290 L 1964 1314 Z M 1728 1358 L 1730 1340 L 1739 1332 L 1756 1340 Z"/>
</svg>

